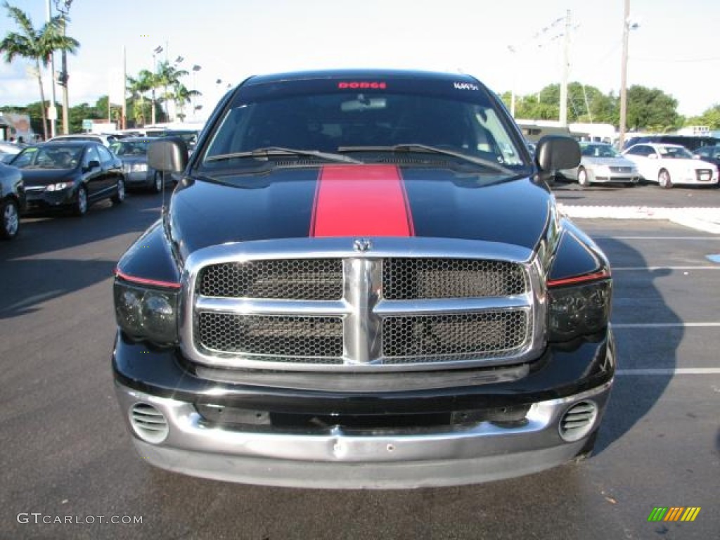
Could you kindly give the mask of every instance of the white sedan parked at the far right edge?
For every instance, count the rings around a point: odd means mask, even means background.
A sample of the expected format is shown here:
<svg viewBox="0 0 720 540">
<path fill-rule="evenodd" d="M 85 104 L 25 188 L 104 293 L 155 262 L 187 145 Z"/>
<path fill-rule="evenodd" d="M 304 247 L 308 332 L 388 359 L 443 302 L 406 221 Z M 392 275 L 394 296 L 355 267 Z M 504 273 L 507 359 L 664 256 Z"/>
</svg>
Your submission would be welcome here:
<svg viewBox="0 0 720 540">
<path fill-rule="evenodd" d="M 641 143 L 625 150 L 623 156 L 635 163 L 640 176 L 667 189 L 675 184 L 716 186 L 718 183 L 718 168 L 714 163 L 693 158 L 684 146 Z"/>
</svg>

